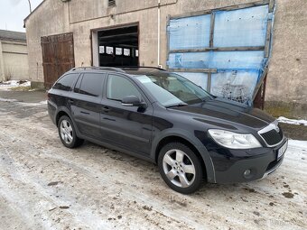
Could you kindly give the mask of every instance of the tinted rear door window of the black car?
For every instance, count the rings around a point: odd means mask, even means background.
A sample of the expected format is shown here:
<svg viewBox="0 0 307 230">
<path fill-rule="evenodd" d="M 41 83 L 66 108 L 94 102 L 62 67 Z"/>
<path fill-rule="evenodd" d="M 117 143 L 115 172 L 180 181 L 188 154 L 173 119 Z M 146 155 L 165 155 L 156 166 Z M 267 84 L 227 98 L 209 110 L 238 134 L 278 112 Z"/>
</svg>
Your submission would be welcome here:
<svg viewBox="0 0 307 230">
<path fill-rule="evenodd" d="M 102 93 L 104 77 L 104 74 L 85 73 L 83 78 L 79 78 L 74 92 L 92 97 L 99 97 Z"/>
</svg>

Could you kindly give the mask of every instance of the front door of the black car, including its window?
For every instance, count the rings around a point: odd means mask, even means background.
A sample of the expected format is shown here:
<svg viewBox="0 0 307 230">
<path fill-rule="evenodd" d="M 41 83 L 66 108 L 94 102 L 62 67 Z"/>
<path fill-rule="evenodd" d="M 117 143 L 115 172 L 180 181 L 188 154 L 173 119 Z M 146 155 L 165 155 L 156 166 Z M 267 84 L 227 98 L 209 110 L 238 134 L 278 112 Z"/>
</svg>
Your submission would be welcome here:
<svg viewBox="0 0 307 230">
<path fill-rule="evenodd" d="M 110 73 L 105 86 L 100 116 L 102 137 L 132 152 L 148 155 L 151 150 L 153 106 L 135 83 L 124 75 Z M 137 96 L 147 108 L 123 106 L 126 96 Z"/>
</svg>

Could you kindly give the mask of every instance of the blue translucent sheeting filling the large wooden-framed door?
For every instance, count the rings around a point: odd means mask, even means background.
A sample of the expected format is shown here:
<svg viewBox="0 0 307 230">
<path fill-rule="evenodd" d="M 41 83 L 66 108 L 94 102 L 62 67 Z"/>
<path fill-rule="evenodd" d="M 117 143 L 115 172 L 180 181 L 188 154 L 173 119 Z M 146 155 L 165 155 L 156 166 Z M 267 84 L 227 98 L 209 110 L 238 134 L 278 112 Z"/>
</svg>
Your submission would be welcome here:
<svg viewBox="0 0 307 230">
<path fill-rule="evenodd" d="M 268 14 L 268 5 L 214 14 L 213 48 L 265 46 L 266 26 L 271 23 L 268 19 L 274 17 Z M 209 29 L 210 14 L 171 20 L 170 51 L 209 47 Z M 192 69 L 217 69 L 211 75 L 210 92 L 243 103 L 250 103 L 267 63 L 264 51 L 170 53 L 167 61 L 170 69 L 191 69 L 191 73 L 179 74 L 204 88 L 208 75 L 193 73 Z"/>
</svg>

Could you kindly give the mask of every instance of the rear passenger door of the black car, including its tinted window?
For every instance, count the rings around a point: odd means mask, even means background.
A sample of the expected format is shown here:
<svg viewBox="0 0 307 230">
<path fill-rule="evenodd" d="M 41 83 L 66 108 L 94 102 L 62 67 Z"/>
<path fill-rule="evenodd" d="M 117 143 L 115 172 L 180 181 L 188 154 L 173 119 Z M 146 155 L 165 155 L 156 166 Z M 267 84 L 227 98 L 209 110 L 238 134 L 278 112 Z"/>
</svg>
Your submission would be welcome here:
<svg viewBox="0 0 307 230">
<path fill-rule="evenodd" d="M 79 132 L 97 140 L 101 139 L 99 116 L 106 74 L 82 74 L 72 92 L 71 111 Z"/>
</svg>

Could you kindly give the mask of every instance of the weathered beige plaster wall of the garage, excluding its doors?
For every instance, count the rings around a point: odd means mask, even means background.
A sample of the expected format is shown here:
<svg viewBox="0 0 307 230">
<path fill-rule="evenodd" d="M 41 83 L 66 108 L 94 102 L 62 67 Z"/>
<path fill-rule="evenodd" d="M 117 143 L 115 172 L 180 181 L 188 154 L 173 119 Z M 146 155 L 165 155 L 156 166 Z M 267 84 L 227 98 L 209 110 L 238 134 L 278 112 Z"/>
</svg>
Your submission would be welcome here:
<svg viewBox="0 0 307 230">
<path fill-rule="evenodd" d="M 90 30 L 126 23 L 139 23 L 140 65 L 165 67 L 167 59 L 166 23 L 168 15 L 193 13 L 255 0 L 161 0 L 161 55 L 158 60 L 158 0 L 117 0 L 108 8 L 107 0 L 79 0 L 69 3 L 45 0 L 25 20 L 30 78 L 43 81 L 41 37 L 73 32 L 76 66 L 91 65 Z M 306 47 L 307 6 L 305 0 L 275 0 L 274 39 L 269 66 L 266 100 L 307 103 Z M 158 63 L 160 62 L 160 63 Z"/>
</svg>

